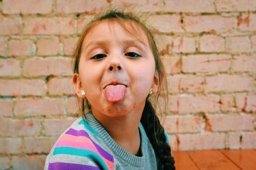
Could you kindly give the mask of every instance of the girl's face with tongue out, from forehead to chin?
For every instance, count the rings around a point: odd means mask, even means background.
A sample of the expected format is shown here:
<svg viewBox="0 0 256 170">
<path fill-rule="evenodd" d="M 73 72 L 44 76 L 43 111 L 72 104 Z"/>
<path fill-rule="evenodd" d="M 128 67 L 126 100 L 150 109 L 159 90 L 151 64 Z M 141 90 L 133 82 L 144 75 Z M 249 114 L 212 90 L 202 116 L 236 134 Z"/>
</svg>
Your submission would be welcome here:
<svg viewBox="0 0 256 170">
<path fill-rule="evenodd" d="M 147 36 L 136 27 L 140 38 L 116 21 L 102 20 L 84 38 L 79 74 L 74 74 L 73 83 L 77 96 L 88 99 L 93 114 L 142 113 L 150 88 L 157 91 L 154 56 Z"/>
</svg>

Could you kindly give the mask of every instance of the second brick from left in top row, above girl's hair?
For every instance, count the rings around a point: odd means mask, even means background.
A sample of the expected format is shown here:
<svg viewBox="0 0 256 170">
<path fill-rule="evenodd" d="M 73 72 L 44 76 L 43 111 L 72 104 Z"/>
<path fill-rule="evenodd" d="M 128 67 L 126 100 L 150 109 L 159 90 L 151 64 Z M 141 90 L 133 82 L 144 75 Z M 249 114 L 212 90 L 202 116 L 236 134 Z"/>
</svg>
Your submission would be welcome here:
<svg viewBox="0 0 256 170">
<path fill-rule="evenodd" d="M 58 13 L 99 13 L 108 6 L 107 1 L 57 0 Z"/>
</svg>

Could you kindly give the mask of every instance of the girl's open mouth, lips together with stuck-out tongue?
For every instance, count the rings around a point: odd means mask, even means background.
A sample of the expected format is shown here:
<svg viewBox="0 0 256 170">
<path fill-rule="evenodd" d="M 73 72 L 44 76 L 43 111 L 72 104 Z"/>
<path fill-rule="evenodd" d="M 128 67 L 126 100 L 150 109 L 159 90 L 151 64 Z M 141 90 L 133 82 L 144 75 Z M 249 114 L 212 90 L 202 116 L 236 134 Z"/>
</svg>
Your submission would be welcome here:
<svg viewBox="0 0 256 170">
<path fill-rule="evenodd" d="M 127 94 L 127 85 L 118 81 L 108 83 L 103 89 L 104 96 L 111 103 L 122 101 Z"/>
</svg>

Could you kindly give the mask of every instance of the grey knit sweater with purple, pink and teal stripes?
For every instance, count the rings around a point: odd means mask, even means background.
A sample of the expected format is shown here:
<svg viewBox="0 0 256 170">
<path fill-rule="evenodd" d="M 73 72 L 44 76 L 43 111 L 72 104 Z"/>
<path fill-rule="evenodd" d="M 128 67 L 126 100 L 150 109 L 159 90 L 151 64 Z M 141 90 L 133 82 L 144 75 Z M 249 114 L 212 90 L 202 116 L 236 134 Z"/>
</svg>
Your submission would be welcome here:
<svg viewBox="0 0 256 170">
<path fill-rule="evenodd" d="M 141 123 L 139 130 L 140 157 L 124 150 L 92 113 L 87 113 L 86 120 L 78 118 L 61 134 L 47 155 L 45 170 L 159 169 L 161 165 Z"/>
</svg>

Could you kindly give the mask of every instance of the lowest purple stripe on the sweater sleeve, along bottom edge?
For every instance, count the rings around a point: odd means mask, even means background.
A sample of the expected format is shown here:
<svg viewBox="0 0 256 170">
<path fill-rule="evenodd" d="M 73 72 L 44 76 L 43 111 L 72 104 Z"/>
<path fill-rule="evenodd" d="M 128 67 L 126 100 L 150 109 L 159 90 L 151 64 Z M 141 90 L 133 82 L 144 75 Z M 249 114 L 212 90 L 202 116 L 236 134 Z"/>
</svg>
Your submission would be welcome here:
<svg viewBox="0 0 256 170">
<path fill-rule="evenodd" d="M 81 170 L 99 170 L 99 167 L 95 166 L 86 166 L 86 165 L 81 165 L 81 164 L 70 164 L 70 163 L 63 163 L 63 162 L 56 162 L 56 163 L 50 163 L 48 170 L 56 170 L 56 169 L 61 169 L 61 170 L 70 170 L 70 169 L 81 169 Z"/>
</svg>

